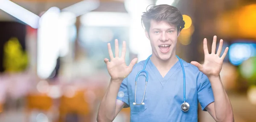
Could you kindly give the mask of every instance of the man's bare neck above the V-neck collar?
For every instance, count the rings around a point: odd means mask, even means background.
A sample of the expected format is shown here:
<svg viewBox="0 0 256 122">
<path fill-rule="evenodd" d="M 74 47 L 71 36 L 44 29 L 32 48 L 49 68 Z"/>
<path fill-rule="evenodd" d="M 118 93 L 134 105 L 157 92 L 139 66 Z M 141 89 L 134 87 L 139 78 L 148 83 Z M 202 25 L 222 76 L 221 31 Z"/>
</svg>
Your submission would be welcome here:
<svg viewBox="0 0 256 122">
<path fill-rule="evenodd" d="M 178 61 L 175 52 L 171 55 L 171 57 L 167 60 L 161 60 L 154 53 L 152 54 L 150 60 L 157 67 L 157 69 L 166 69 L 169 70 L 172 66 Z"/>
</svg>

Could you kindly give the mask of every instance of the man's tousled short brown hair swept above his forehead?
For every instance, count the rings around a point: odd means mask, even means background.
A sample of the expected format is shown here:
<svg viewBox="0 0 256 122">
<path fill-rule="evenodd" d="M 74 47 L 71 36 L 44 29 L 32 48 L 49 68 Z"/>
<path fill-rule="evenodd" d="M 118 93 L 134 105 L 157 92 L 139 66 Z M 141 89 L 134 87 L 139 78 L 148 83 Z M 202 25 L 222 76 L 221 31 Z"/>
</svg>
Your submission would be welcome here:
<svg viewBox="0 0 256 122">
<path fill-rule="evenodd" d="M 141 16 L 141 22 L 144 25 L 145 30 L 148 32 L 152 19 L 157 22 L 166 21 L 170 25 L 175 25 L 177 26 L 177 31 L 181 31 L 185 25 L 183 16 L 180 14 L 180 11 L 176 7 L 170 5 L 153 6 L 146 12 L 143 12 L 143 15 Z"/>
</svg>

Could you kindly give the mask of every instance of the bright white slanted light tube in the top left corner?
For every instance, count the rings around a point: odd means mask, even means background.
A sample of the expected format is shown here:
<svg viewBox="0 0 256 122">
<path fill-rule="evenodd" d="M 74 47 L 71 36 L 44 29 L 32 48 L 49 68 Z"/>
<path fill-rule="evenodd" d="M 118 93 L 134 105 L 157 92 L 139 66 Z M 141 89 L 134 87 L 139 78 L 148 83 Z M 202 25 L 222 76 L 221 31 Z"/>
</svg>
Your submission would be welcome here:
<svg viewBox="0 0 256 122">
<path fill-rule="evenodd" d="M 12 1 L 0 0 L 0 9 L 19 19 L 20 21 L 26 23 L 32 28 L 38 28 L 38 21 L 40 17 L 26 10 L 25 8 L 13 3 Z"/>
</svg>

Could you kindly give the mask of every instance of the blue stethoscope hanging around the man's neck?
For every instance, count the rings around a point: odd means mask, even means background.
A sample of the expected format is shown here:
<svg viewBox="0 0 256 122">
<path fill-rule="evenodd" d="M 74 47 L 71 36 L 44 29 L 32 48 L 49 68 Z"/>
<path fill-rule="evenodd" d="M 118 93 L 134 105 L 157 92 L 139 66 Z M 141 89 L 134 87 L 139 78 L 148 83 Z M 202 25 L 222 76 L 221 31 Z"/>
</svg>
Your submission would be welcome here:
<svg viewBox="0 0 256 122">
<path fill-rule="evenodd" d="M 145 103 L 143 103 L 143 100 L 144 100 L 144 97 L 145 97 L 146 87 L 147 87 L 147 83 L 148 83 L 148 72 L 145 70 L 145 68 L 146 68 L 146 65 L 148 64 L 148 60 L 150 59 L 150 57 L 151 57 L 151 55 L 146 59 L 143 69 L 140 72 L 138 72 L 138 74 L 136 76 L 136 80 L 135 80 L 135 96 L 134 96 L 135 102 L 133 103 L 133 105 L 145 105 Z M 180 65 L 181 65 L 182 72 L 183 72 L 183 98 L 184 98 L 184 103 L 182 103 L 180 105 L 180 108 L 181 108 L 182 111 L 186 112 L 186 111 L 189 111 L 189 103 L 186 103 L 186 90 L 185 90 L 185 88 L 186 88 L 186 85 L 185 85 L 186 84 L 186 79 L 185 78 L 186 77 L 185 77 L 185 70 L 184 70 L 184 67 L 183 67 L 183 63 L 181 62 L 181 59 L 177 55 L 176 55 L 176 57 L 180 61 Z M 146 77 L 146 83 L 145 83 L 143 99 L 142 99 L 140 104 L 137 104 L 136 103 L 137 81 L 138 81 L 140 73 L 142 73 L 142 72 L 144 72 L 146 74 L 146 76 L 144 75 Z"/>
</svg>

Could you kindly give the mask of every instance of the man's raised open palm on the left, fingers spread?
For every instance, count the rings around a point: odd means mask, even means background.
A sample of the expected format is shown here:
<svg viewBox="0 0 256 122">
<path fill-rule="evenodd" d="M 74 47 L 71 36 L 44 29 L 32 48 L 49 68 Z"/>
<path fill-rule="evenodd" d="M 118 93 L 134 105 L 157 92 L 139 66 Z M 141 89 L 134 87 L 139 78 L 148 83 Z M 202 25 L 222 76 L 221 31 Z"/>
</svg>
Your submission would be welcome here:
<svg viewBox="0 0 256 122">
<path fill-rule="evenodd" d="M 108 58 L 104 59 L 104 62 L 107 64 L 108 73 L 111 76 L 111 80 L 113 81 L 121 81 L 126 78 L 130 73 L 134 64 L 137 62 L 137 58 L 134 58 L 129 66 L 125 64 L 125 53 L 126 53 L 126 43 L 125 41 L 122 44 L 122 55 L 119 57 L 119 47 L 118 40 L 115 40 L 115 55 L 113 56 L 111 45 L 108 43 L 108 53 L 110 57 L 110 61 Z"/>
</svg>

